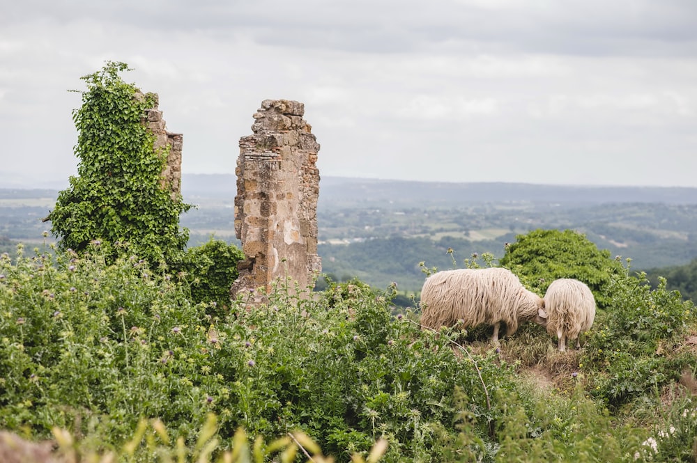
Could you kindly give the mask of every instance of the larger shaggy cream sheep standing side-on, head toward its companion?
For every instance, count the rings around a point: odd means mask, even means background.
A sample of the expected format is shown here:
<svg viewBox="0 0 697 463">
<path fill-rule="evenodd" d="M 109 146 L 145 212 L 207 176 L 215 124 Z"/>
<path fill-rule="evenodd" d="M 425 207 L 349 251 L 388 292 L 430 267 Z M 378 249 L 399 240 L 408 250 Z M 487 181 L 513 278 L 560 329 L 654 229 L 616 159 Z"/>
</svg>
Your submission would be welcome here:
<svg viewBox="0 0 697 463">
<path fill-rule="evenodd" d="M 491 342 L 498 342 L 501 322 L 507 336 L 528 320 L 546 324 L 544 301 L 526 290 L 510 270 L 456 269 L 429 276 L 421 290 L 421 324 L 438 329 L 461 322 L 464 328 L 493 324 Z"/>
</svg>

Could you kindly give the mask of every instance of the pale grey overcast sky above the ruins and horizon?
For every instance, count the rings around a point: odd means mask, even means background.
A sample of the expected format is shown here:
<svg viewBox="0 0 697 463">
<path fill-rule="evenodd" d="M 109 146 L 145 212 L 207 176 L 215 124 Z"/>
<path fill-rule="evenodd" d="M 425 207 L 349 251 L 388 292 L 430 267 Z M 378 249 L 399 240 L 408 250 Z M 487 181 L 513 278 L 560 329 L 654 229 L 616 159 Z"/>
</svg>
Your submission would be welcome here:
<svg viewBox="0 0 697 463">
<path fill-rule="evenodd" d="M 0 187 L 77 171 L 80 79 L 160 95 L 184 173 L 266 99 L 323 176 L 697 187 L 696 0 L 0 0 Z M 59 185 L 60 187 L 60 185 Z"/>
</svg>

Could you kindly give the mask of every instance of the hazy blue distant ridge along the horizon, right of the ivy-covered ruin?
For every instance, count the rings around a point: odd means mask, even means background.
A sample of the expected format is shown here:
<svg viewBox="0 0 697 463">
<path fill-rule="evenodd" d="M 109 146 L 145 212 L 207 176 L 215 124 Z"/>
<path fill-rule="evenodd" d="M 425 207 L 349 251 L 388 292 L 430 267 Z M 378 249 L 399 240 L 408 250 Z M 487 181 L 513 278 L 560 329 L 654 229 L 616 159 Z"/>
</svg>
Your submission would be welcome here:
<svg viewBox="0 0 697 463">
<path fill-rule="evenodd" d="M 234 198 L 237 179 L 232 174 L 185 174 L 183 194 L 204 198 Z M 590 205 L 602 203 L 697 204 L 697 188 L 592 187 L 527 183 L 450 183 L 365 178 L 323 177 L 321 203 L 350 201 L 455 205 L 468 202 L 531 202 Z"/>
</svg>

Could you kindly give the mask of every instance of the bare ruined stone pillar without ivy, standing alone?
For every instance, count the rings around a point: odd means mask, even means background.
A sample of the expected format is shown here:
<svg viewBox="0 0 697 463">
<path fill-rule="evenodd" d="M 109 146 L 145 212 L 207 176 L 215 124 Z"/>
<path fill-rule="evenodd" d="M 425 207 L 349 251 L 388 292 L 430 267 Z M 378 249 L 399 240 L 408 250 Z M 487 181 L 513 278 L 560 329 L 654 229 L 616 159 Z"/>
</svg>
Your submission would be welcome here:
<svg viewBox="0 0 697 463">
<path fill-rule="evenodd" d="M 254 114 L 250 136 L 240 139 L 235 197 L 235 234 L 245 260 L 231 288 L 240 292 L 275 281 L 298 283 L 305 290 L 321 272 L 317 255 L 319 143 L 302 119 L 305 106 L 296 101 L 264 100 Z"/>
</svg>

